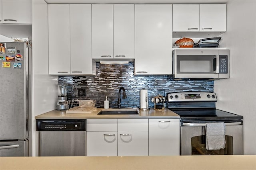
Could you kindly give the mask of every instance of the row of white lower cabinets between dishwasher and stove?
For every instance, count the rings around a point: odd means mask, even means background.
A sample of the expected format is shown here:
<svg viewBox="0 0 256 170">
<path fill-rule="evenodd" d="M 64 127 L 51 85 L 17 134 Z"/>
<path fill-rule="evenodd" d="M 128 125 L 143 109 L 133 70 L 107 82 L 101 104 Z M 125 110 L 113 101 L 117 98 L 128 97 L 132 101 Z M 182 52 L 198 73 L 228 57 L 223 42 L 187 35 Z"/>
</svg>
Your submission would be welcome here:
<svg viewBox="0 0 256 170">
<path fill-rule="evenodd" d="M 179 154 L 179 119 L 87 119 L 86 156 Z"/>
</svg>

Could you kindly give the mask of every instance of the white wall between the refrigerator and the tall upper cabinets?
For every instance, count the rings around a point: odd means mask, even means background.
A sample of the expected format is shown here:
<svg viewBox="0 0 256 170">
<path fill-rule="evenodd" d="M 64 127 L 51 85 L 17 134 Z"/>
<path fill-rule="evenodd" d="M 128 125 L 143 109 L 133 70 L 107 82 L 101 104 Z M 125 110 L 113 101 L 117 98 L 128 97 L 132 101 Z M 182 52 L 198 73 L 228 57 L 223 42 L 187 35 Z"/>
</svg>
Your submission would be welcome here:
<svg viewBox="0 0 256 170">
<path fill-rule="evenodd" d="M 35 156 L 36 121 L 34 117 L 54 110 L 58 97 L 58 76 L 48 75 L 48 4 L 44 0 L 32 1 L 32 43 L 32 156 Z"/>
</svg>

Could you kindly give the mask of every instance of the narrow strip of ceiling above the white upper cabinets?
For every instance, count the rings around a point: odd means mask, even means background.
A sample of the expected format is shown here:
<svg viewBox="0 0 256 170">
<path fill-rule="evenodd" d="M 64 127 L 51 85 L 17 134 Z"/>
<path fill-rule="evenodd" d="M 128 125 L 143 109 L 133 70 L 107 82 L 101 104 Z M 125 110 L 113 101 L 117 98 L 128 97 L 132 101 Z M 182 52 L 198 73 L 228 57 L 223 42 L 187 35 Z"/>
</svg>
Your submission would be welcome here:
<svg viewBox="0 0 256 170">
<path fill-rule="evenodd" d="M 225 4 L 228 0 L 45 0 L 48 4 Z"/>
</svg>

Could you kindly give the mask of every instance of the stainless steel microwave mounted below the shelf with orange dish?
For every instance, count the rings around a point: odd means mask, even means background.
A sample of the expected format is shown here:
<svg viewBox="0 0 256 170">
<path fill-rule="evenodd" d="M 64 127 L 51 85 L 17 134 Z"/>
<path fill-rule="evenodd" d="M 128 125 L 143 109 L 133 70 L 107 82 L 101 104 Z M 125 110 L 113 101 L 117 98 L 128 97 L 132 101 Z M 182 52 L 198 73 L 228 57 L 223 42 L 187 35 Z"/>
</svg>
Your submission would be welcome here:
<svg viewBox="0 0 256 170">
<path fill-rule="evenodd" d="M 228 49 L 174 49 L 174 79 L 229 78 Z"/>
</svg>

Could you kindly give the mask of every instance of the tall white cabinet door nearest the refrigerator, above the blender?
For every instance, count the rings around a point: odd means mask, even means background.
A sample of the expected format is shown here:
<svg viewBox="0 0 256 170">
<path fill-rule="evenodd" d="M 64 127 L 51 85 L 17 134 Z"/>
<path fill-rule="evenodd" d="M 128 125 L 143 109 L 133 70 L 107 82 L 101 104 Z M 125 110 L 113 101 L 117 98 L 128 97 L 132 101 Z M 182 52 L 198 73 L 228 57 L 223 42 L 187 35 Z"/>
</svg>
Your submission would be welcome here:
<svg viewBox="0 0 256 170">
<path fill-rule="evenodd" d="M 49 74 L 70 74 L 70 6 L 68 4 L 48 5 L 48 36 Z"/>
</svg>

